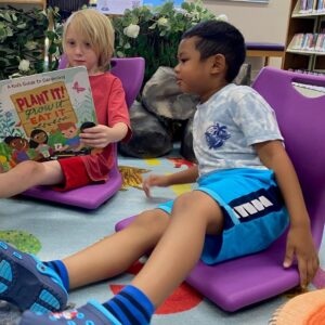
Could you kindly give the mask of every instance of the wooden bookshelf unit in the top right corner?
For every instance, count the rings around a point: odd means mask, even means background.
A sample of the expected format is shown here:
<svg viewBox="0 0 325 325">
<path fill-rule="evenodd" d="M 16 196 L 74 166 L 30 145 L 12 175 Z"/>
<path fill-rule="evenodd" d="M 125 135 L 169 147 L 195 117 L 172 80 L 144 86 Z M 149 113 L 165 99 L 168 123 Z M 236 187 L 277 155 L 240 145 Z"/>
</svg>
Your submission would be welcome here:
<svg viewBox="0 0 325 325">
<path fill-rule="evenodd" d="M 322 21 L 325 22 L 325 11 L 299 13 L 300 1 L 291 0 L 283 68 L 325 72 L 325 52 L 291 49 L 296 34 L 318 32 Z"/>
</svg>

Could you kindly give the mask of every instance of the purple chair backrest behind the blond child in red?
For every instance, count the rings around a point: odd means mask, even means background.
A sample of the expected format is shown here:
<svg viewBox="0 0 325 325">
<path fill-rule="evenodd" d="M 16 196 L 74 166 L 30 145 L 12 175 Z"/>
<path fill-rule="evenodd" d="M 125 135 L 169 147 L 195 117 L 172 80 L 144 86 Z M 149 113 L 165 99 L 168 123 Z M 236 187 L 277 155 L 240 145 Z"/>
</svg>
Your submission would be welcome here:
<svg viewBox="0 0 325 325">
<path fill-rule="evenodd" d="M 118 77 L 126 91 L 126 102 L 131 107 L 142 86 L 144 76 L 144 58 L 143 57 L 113 57 L 110 61 L 110 73 Z M 67 58 L 62 55 L 58 63 L 58 69 L 67 66 Z"/>
</svg>

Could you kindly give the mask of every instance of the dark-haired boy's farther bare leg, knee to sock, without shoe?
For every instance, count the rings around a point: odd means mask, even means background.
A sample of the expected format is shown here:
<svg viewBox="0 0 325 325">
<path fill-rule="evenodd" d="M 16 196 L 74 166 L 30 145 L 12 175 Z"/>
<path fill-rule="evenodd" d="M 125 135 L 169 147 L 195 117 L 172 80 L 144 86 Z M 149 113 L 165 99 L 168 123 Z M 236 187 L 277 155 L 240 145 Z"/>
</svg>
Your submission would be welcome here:
<svg viewBox="0 0 325 325">
<path fill-rule="evenodd" d="M 169 220 L 169 216 L 160 209 L 142 212 L 125 230 L 64 259 L 70 289 L 126 271 L 155 247 Z"/>
</svg>

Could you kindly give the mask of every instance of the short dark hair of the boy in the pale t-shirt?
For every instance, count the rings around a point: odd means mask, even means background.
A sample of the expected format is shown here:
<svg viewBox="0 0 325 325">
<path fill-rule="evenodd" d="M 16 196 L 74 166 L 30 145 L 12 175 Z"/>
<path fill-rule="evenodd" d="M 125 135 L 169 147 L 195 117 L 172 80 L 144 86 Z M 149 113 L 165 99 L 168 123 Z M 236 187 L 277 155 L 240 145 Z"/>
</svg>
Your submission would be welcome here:
<svg viewBox="0 0 325 325">
<path fill-rule="evenodd" d="M 222 54 L 227 64 L 225 79 L 231 82 L 238 75 L 246 57 L 245 40 L 233 25 L 221 21 L 205 21 L 186 30 L 182 39 L 197 37 L 196 49 L 200 60 Z"/>
</svg>

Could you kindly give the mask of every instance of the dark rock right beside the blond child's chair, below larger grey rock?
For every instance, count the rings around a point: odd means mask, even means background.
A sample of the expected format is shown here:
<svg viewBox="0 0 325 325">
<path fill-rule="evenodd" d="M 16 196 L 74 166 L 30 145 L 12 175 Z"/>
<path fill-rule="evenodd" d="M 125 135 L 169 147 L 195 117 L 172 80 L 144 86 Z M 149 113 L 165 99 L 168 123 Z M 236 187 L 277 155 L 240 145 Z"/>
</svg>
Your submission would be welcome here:
<svg viewBox="0 0 325 325">
<path fill-rule="evenodd" d="M 128 143 L 119 143 L 119 152 L 136 158 L 154 158 L 172 150 L 172 139 L 156 116 L 135 102 L 130 109 L 133 135 Z"/>
</svg>

